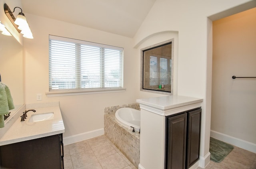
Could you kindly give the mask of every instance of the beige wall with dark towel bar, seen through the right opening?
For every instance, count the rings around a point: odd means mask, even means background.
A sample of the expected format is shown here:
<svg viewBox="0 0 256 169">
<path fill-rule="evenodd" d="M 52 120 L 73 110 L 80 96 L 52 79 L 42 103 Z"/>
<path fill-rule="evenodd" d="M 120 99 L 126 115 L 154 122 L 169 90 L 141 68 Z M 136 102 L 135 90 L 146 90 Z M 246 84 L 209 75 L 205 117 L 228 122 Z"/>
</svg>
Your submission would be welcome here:
<svg viewBox="0 0 256 169">
<path fill-rule="evenodd" d="M 211 120 L 211 130 L 254 143 L 254 151 L 256 79 L 231 77 L 256 77 L 255 21 L 253 8 L 213 22 Z"/>
</svg>

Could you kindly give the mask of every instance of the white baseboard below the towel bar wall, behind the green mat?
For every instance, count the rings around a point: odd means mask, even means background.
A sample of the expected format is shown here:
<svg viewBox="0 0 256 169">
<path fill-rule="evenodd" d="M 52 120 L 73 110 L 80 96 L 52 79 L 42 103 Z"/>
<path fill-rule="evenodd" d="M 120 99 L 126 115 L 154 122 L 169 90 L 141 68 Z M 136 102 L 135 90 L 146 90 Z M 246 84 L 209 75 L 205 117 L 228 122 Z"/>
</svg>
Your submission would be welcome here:
<svg viewBox="0 0 256 169">
<path fill-rule="evenodd" d="M 241 140 L 239 138 L 228 136 L 226 134 L 222 134 L 222 133 L 216 132 L 214 130 L 211 130 L 210 136 L 212 138 L 216 138 L 216 139 L 224 141 L 226 143 L 235 145 L 236 147 L 240 147 L 242 149 L 246 149 L 248 151 L 256 153 L 256 144 L 251 143 L 249 141 L 245 141 L 245 140 Z"/>
</svg>

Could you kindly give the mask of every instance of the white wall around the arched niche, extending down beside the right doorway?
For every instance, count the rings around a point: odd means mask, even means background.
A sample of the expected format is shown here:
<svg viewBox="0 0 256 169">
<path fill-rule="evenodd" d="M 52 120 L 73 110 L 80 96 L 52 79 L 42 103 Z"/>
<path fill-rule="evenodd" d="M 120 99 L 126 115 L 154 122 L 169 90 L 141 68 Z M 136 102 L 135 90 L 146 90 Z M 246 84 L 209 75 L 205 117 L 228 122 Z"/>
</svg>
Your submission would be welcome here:
<svg viewBox="0 0 256 169">
<path fill-rule="evenodd" d="M 134 37 L 134 46 L 139 47 L 152 35 L 166 31 L 178 31 L 178 59 L 174 65 L 177 67 L 176 92 L 178 95 L 204 99 L 202 103 L 201 158 L 208 156 L 210 141 L 212 22 L 208 17 L 218 13 L 221 14 L 216 17 L 234 14 L 237 10 L 241 10 L 234 7 L 246 2 L 255 1 L 156 0 Z M 253 5 L 256 6 L 255 3 Z M 243 8 L 245 7 L 243 6 Z M 246 8 L 253 8 L 253 6 Z M 228 12 L 222 13 L 225 10 Z M 143 97 L 141 94 L 139 96 Z M 201 164 L 201 166 L 204 165 Z"/>
</svg>

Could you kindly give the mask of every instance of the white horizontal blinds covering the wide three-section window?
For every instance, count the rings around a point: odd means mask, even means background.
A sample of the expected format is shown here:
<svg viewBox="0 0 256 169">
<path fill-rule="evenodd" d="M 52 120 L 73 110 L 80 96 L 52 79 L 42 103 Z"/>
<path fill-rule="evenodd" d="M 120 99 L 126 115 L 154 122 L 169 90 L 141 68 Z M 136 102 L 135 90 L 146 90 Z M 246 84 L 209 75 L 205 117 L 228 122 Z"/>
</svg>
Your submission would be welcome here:
<svg viewBox="0 0 256 169">
<path fill-rule="evenodd" d="M 123 87 L 123 48 L 49 35 L 49 91 Z"/>
</svg>

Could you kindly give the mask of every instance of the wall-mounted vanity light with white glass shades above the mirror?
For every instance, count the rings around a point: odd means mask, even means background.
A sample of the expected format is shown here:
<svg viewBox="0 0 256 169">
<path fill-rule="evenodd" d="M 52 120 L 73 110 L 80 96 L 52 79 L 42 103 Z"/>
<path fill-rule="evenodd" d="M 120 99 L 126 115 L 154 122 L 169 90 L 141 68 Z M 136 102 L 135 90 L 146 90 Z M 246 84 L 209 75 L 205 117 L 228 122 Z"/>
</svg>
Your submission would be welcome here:
<svg viewBox="0 0 256 169">
<path fill-rule="evenodd" d="M 15 7 L 13 9 L 13 12 L 15 11 L 16 8 L 20 7 Z M 6 16 L 9 18 L 9 20 L 12 22 L 13 26 L 16 28 L 16 30 L 19 33 L 23 34 L 23 37 L 33 39 L 32 32 L 28 26 L 28 22 L 26 20 L 25 15 L 22 13 L 22 9 L 20 8 L 21 12 L 18 14 L 17 18 L 14 17 L 12 14 L 13 12 L 10 10 L 9 6 L 7 4 L 4 4 L 4 12 Z"/>
</svg>

